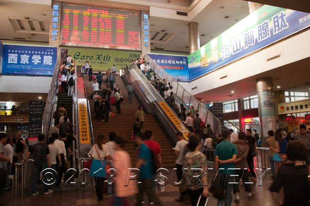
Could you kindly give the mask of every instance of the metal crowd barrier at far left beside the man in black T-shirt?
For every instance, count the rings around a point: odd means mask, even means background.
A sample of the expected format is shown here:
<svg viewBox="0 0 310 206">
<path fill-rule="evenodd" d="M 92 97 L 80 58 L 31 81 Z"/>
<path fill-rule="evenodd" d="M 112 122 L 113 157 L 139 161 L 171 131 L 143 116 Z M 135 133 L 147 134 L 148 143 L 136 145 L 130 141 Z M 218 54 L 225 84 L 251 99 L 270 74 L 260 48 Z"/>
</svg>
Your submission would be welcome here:
<svg viewBox="0 0 310 206">
<path fill-rule="evenodd" d="M 21 171 L 21 195 L 31 186 L 32 159 L 15 163 L 15 195 L 18 195 L 19 173 Z"/>
</svg>

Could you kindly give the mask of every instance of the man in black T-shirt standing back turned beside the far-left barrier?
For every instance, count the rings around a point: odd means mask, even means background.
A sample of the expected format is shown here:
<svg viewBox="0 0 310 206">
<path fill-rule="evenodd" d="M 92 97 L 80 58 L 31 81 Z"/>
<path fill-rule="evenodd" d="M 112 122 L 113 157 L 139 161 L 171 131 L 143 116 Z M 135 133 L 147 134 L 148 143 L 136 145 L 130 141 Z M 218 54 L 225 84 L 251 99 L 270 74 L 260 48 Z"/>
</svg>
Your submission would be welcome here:
<svg viewBox="0 0 310 206">
<path fill-rule="evenodd" d="M 49 147 L 44 143 L 45 135 L 40 134 L 38 136 L 39 143 L 32 145 L 29 147 L 29 152 L 27 154 L 30 159 L 33 159 L 33 169 L 31 175 L 31 193 L 32 196 L 39 194 L 36 191 L 37 179 L 40 176 L 40 173 L 50 167 L 50 157 L 49 157 Z M 44 177 L 44 174 L 43 174 Z M 53 193 L 52 190 L 49 190 L 49 185 L 43 183 L 44 185 L 44 194 L 51 194 Z"/>
</svg>

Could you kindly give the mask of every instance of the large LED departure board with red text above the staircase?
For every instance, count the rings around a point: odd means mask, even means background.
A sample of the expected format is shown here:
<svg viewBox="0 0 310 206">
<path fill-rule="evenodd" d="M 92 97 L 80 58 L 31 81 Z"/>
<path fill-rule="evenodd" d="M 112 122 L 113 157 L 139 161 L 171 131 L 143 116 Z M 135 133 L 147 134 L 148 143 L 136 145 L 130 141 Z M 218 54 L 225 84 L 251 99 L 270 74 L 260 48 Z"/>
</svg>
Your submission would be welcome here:
<svg viewBox="0 0 310 206">
<path fill-rule="evenodd" d="M 139 50 L 139 19 L 134 12 L 64 6 L 61 44 Z"/>
</svg>

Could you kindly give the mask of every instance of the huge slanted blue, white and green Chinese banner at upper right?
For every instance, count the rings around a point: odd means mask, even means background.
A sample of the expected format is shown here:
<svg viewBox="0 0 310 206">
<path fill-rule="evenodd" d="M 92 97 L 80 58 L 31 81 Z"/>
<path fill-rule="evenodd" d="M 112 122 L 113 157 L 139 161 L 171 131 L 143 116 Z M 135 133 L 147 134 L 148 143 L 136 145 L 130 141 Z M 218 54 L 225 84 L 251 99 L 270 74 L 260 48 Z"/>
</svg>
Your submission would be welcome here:
<svg viewBox="0 0 310 206">
<path fill-rule="evenodd" d="M 310 26 L 310 14 L 264 5 L 188 58 L 189 79 L 212 72 Z"/>
</svg>

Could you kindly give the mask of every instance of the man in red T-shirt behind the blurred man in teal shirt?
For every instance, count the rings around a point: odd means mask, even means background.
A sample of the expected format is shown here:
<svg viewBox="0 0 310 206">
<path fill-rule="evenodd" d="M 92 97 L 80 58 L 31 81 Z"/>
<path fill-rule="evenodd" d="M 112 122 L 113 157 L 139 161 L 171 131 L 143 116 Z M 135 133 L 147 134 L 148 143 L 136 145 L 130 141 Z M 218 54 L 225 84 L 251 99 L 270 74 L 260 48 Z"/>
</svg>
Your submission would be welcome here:
<svg viewBox="0 0 310 206">
<path fill-rule="evenodd" d="M 154 165 L 155 168 L 153 168 L 153 180 L 155 179 L 156 176 L 156 171 L 157 169 L 161 168 L 162 165 L 162 156 L 161 156 L 161 147 L 158 144 L 158 142 L 153 140 L 153 133 L 152 131 L 146 131 L 144 133 L 145 136 L 145 141 L 144 143 L 147 145 L 147 147 L 152 151 L 153 158 L 155 159 L 156 165 Z M 153 190 L 152 192 L 156 192 L 156 183 L 153 181 Z M 154 205 L 153 200 L 148 200 L 149 205 Z"/>
</svg>

